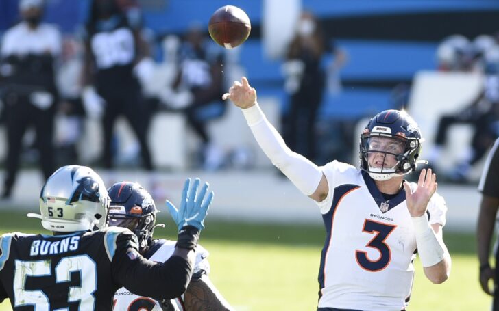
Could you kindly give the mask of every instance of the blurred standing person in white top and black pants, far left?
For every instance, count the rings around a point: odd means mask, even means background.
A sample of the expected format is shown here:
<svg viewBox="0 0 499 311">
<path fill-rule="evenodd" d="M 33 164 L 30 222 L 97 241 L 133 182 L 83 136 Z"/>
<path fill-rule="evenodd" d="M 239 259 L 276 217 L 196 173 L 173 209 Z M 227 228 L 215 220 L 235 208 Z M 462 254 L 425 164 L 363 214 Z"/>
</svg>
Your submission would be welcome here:
<svg viewBox="0 0 499 311">
<path fill-rule="evenodd" d="M 19 1 L 23 20 L 5 31 L 0 51 L 0 87 L 3 89 L 8 152 L 2 198 L 10 198 L 19 170 L 23 135 L 36 129 L 36 146 L 45 178 L 54 170 L 53 118 L 58 92 L 54 67 L 61 51 L 61 35 L 42 23 L 42 0 Z"/>
</svg>

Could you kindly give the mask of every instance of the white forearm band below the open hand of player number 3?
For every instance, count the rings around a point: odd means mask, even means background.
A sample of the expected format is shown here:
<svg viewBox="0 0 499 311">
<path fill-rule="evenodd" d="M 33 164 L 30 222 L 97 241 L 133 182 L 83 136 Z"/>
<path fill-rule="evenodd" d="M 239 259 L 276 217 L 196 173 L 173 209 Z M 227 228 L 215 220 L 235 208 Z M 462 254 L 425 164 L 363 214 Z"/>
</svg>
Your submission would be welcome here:
<svg viewBox="0 0 499 311">
<path fill-rule="evenodd" d="M 411 217 L 416 236 L 417 252 L 423 267 L 431 267 L 443 260 L 447 249 L 441 245 L 428 223 L 426 214 Z"/>
</svg>

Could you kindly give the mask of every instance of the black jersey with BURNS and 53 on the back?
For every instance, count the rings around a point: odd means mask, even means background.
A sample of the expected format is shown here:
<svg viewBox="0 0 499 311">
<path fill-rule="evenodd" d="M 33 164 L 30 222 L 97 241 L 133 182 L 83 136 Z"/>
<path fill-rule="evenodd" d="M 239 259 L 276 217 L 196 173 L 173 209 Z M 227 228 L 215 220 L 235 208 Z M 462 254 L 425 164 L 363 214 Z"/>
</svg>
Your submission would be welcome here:
<svg viewBox="0 0 499 311">
<path fill-rule="evenodd" d="M 142 258 L 136 236 L 125 228 L 0 237 L 0 301 L 9 297 L 15 311 L 111 310 L 114 292 L 122 286 L 167 297 L 167 280 L 177 280 L 169 271 L 186 264 L 191 276 L 188 262 L 178 256 L 169 268 L 167 262 Z"/>
</svg>

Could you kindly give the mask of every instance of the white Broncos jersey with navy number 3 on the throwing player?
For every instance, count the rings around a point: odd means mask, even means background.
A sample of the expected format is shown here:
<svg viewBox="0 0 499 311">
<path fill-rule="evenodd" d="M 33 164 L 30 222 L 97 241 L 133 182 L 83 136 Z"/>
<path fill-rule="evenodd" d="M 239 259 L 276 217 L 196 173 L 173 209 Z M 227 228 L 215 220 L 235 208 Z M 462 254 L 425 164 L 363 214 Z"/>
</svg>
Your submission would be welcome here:
<svg viewBox="0 0 499 311">
<path fill-rule="evenodd" d="M 385 200 L 374 180 L 352 165 L 332 161 L 322 172 L 328 197 L 319 202 L 326 241 L 319 269 L 319 308 L 402 310 L 411 295 L 417 254 L 405 191 Z M 414 190 L 417 187 L 411 183 Z M 447 207 L 435 193 L 430 224 L 446 223 Z"/>
</svg>

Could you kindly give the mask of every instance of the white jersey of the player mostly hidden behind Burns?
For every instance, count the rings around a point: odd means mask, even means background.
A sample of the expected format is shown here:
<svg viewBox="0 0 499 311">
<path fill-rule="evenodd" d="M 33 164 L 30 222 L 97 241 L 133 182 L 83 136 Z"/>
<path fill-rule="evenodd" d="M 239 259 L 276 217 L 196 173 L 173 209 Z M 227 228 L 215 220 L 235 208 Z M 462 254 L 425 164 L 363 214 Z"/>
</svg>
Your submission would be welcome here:
<svg viewBox="0 0 499 311">
<path fill-rule="evenodd" d="M 173 254 L 173 251 L 175 250 L 175 243 L 177 242 L 159 239 L 156 240 L 156 243 L 157 245 L 159 245 L 159 247 L 158 249 L 156 249 L 156 251 L 152 249 L 152 252 L 154 252 L 154 254 L 149 257 L 149 260 L 156 262 L 165 262 Z M 197 245 L 195 255 L 196 261 L 194 264 L 193 275 L 199 273 L 208 275 L 210 273 L 210 264 L 206 259 L 209 255 L 208 251 L 201 245 Z M 171 299 L 170 303 L 173 306 L 172 310 L 184 311 L 184 295 L 176 299 Z M 162 308 L 160 302 L 156 301 L 155 299 L 135 295 L 133 293 L 130 293 L 130 291 L 126 288 L 122 287 L 117 290 L 116 293 L 114 293 L 112 310 L 161 311 Z"/>
</svg>

